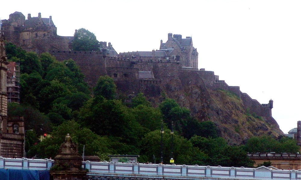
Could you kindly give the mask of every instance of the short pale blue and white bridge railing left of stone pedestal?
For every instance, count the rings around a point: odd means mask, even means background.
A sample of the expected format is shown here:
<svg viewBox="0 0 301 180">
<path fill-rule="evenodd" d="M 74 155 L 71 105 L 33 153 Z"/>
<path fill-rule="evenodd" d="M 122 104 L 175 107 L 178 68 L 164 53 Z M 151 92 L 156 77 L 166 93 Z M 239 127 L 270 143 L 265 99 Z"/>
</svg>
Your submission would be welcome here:
<svg viewBox="0 0 301 180">
<path fill-rule="evenodd" d="M 54 164 L 51 159 L 5 158 L 0 156 L 0 169 L 49 170 Z"/>
</svg>

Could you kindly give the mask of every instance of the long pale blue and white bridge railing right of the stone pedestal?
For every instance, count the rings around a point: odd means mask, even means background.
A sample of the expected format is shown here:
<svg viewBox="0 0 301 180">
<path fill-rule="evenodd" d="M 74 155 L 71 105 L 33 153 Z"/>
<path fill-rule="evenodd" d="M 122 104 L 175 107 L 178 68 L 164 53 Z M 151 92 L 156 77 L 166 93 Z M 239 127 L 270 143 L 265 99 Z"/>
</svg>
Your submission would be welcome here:
<svg viewBox="0 0 301 180">
<path fill-rule="evenodd" d="M 213 166 L 186 166 L 186 165 L 162 165 L 141 163 L 108 163 L 108 162 L 82 162 L 82 167 L 88 169 L 88 174 L 132 174 L 145 176 L 189 176 L 212 178 L 240 178 L 240 179 L 301 179 L 301 170 L 279 170 L 274 167 L 267 168 L 235 168 Z M 159 176 L 159 177 L 158 177 Z"/>
</svg>

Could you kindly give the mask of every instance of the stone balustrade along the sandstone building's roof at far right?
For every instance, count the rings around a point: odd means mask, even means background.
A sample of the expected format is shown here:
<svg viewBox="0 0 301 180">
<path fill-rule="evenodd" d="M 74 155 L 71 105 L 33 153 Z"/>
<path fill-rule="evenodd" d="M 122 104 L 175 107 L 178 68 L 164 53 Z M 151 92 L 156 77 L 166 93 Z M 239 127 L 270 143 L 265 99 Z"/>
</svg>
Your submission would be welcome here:
<svg viewBox="0 0 301 180">
<path fill-rule="evenodd" d="M 273 158 L 273 159 L 297 159 L 301 158 L 301 154 L 291 154 L 291 153 L 248 153 L 249 158 Z"/>
</svg>

